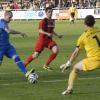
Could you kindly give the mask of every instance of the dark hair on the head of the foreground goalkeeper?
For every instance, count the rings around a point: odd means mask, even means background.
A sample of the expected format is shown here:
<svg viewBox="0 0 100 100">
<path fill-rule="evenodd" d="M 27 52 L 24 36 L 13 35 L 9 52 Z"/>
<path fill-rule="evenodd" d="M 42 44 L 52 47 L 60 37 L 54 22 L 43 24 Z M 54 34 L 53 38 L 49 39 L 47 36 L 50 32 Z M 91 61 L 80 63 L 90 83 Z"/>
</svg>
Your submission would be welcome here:
<svg viewBox="0 0 100 100">
<path fill-rule="evenodd" d="M 92 27 L 95 24 L 95 18 L 92 15 L 87 15 L 85 17 L 84 23 L 85 25 Z"/>
</svg>

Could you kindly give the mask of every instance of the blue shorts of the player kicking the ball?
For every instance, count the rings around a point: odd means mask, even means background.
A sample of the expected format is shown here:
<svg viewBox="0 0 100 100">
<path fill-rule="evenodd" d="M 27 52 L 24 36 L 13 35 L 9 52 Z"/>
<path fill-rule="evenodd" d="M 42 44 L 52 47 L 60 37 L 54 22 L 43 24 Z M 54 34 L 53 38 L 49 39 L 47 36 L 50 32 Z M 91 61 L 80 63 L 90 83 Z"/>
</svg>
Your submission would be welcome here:
<svg viewBox="0 0 100 100">
<path fill-rule="evenodd" d="M 4 55 L 8 58 L 12 58 L 16 55 L 16 49 L 12 45 L 0 46 L 0 61 L 3 60 Z"/>
</svg>

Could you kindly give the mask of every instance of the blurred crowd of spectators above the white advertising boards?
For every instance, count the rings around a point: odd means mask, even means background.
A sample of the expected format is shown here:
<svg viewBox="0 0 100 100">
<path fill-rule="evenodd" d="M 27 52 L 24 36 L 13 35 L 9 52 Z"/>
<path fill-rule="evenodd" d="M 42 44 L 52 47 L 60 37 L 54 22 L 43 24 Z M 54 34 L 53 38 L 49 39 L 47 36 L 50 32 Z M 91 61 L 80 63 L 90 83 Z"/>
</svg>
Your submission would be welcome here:
<svg viewBox="0 0 100 100">
<path fill-rule="evenodd" d="M 66 9 L 74 4 L 76 8 L 99 8 L 100 0 L 0 0 L 0 10 L 38 10 L 48 6 Z"/>
</svg>

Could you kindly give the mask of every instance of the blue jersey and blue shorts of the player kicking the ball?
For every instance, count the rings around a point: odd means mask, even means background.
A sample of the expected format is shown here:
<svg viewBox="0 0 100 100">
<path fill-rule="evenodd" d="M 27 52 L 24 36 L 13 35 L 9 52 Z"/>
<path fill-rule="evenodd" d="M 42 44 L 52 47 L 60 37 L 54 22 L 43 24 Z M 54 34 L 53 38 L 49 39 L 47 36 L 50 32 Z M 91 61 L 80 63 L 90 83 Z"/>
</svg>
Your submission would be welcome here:
<svg viewBox="0 0 100 100">
<path fill-rule="evenodd" d="M 12 58 L 16 55 L 15 48 L 9 42 L 9 33 L 5 31 L 8 28 L 8 23 L 4 19 L 0 19 L 0 61 L 3 60 L 3 56 Z"/>
</svg>

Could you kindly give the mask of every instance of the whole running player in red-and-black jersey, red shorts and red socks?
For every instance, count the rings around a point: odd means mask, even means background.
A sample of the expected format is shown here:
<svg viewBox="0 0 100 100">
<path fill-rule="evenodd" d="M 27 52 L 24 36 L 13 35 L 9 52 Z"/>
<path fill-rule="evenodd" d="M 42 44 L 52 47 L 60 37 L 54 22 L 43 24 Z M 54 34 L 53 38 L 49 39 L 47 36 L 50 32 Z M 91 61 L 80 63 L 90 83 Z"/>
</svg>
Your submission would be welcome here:
<svg viewBox="0 0 100 100">
<path fill-rule="evenodd" d="M 58 38 L 62 38 L 62 35 L 58 35 L 54 32 L 55 22 L 51 18 L 53 12 L 52 8 L 47 7 L 45 9 L 45 12 L 46 18 L 42 19 L 39 23 L 39 34 L 34 48 L 35 52 L 31 56 L 29 56 L 29 58 L 24 62 L 24 65 L 27 66 L 32 60 L 39 56 L 44 48 L 48 48 L 52 51 L 52 53 L 44 64 L 43 68 L 52 70 L 49 64 L 55 59 L 58 54 L 58 46 L 55 41 L 52 40 L 52 36 L 55 35 Z"/>
</svg>

